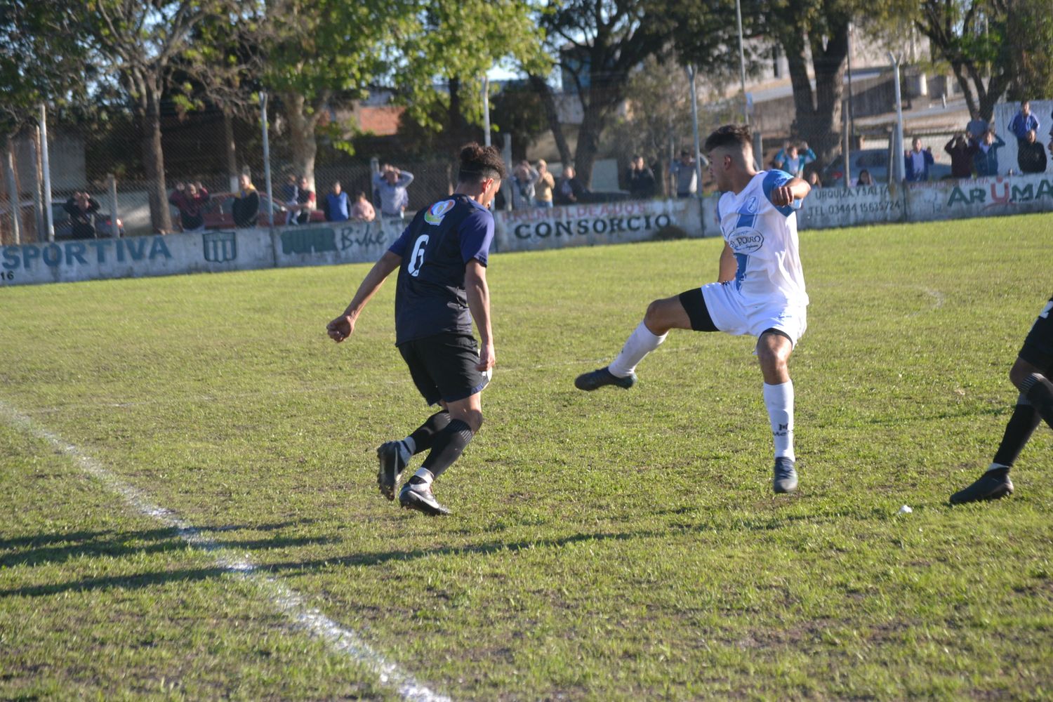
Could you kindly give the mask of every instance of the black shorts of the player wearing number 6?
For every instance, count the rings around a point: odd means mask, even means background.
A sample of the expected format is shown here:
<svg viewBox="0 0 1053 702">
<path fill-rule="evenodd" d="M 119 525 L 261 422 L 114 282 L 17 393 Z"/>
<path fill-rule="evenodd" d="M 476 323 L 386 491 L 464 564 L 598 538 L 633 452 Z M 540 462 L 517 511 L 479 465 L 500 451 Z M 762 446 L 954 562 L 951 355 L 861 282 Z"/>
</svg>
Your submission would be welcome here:
<svg viewBox="0 0 1053 702">
<path fill-rule="evenodd" d="M 475 367 L 479 362 L 479 345 L 471 335 L 436 334 L 406 341 L 398 350 L 428 404 L 463 400 L 490 382 Z"/>
</svg>

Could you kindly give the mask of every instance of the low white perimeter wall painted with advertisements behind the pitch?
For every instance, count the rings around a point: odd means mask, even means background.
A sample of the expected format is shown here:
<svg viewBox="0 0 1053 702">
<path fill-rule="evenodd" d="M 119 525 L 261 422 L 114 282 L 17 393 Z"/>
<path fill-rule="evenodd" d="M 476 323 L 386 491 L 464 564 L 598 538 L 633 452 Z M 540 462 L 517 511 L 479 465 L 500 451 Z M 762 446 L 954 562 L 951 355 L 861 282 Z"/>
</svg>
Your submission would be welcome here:
<svg viewBox="0 0 1053 702">
<path fill-rule="evenodd" d="M 797 217 L 799 228 L 810 229 L 1038 212 L 1053 212 L 1053 175 L 817 188 Z M 525 209 L 495 219 L 498 253 L 649 241 L 667 227 L 720 236 L 715 196 Z M 372 262 L 404 226 L 390 220 L 3 246 L 0 285 Z"/>
</svg>

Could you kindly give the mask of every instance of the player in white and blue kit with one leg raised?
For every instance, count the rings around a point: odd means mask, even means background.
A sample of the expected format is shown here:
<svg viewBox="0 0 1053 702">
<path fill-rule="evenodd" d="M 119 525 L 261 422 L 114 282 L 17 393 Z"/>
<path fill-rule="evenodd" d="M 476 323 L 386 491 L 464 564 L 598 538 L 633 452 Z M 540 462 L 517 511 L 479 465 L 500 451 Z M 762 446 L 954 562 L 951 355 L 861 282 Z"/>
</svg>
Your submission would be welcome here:
<svg viewBox="0 0 1053 702">
<path fill-rule="evenodd" d="M 811 186 L 782 171 L 755 171 L 750 128 L 722 126 L 706 140 L 724 238 L 718 281 L 648 305 L 643 321 L 610 365 L 577 377 L 575 386 L 629 388 L 636 365 L 670 329 L 757 337 L 756 354 L 775 439 L 776 493 L 797 488 L 793 449 L 793 381 L 787 362 L 804 333 L 808 295 L 797 253 L 795 202 Z"/>
</svg>

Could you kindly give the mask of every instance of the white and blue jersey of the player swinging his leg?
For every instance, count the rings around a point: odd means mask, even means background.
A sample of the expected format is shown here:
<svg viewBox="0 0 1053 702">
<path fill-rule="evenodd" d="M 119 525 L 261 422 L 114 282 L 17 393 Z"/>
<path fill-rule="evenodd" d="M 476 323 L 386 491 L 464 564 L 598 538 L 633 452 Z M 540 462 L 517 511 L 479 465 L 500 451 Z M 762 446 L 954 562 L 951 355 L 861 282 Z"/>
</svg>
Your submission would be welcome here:
<svg viewBox="0 0 1053 702">
<path fill-rule="evenodd" d="M 804 307 L 804 274 L 797 246 L 797 214 L 772 204 L 772 190 L 793 176 L 761 171 L 741 193 L 717 200 L 724 241 L 738 261 L 733 285 L 747 307 Z"/>
</svg>

